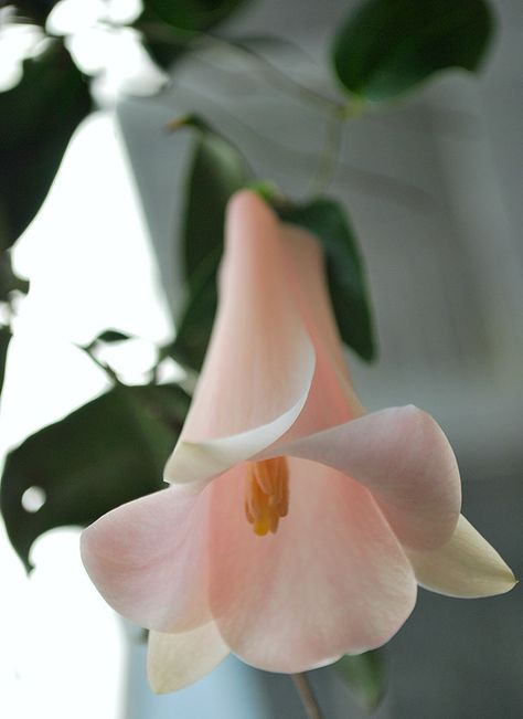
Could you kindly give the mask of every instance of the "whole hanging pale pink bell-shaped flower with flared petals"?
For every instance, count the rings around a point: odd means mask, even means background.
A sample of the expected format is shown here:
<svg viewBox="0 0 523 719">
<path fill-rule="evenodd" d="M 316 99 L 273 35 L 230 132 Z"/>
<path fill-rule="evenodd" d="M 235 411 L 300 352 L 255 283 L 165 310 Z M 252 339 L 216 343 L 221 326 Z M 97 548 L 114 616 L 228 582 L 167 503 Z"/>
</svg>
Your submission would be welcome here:
<svg viewBox="0 0 523 719">
<path fill-rule="evenodd" d="M 515 581 L 460 517 L 436 422 L 364 413 L 319 244 L 248 191 L 230 204 L 218 314 L 166 480 L 82 538 L 105 599 L 151 630 L 158 691 L 228 652 L 295 673 L 377 647 L 418 583 L 484 596 Z"/>
</svg>

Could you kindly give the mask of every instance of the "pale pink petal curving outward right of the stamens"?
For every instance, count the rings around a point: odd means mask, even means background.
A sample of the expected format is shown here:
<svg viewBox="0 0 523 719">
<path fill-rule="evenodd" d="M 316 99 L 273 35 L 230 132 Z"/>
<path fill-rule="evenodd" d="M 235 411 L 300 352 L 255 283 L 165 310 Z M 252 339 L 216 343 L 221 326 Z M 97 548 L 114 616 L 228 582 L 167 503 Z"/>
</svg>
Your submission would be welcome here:
<svg viewBox="0 0 523 719">
<path fill-rule="evenodd" d="M 276 452 L 328 464 L 357 479 L 410 549 L 441 546 L 458 521 L 461 485 L 456 457 L 438 424 L 415 406 L 374 412 L 278 444 Z"/>
</svg>

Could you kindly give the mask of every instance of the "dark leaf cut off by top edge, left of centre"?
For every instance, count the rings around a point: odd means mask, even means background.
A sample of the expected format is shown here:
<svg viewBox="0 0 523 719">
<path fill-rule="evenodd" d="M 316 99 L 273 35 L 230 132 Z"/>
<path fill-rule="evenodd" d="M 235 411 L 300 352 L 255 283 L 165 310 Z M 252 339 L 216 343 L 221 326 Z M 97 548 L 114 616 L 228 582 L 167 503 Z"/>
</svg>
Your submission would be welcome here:
<svg viewBox="0 0 523 719">
<path fill-rule="evenodd" d="M 173 28 L 196 31 L 222 22 L 245 2 L 246 0 L 143 0 L 143 6 Z"/>
</svg>

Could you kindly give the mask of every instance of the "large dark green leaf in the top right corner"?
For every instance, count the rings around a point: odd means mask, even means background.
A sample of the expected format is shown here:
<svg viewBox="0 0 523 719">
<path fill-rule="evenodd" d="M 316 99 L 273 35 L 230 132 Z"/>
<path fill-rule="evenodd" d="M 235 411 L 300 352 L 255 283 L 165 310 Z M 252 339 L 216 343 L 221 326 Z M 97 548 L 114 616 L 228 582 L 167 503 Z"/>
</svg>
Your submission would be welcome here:
<svg viewBox="0 0 523 719">
<path fill-rule="evenodd" d="M 492 30 L 485 0 L 365 0 L 335 38 L 334 68 L 351 93 L 391 101 L 436 72 L 477 71 Z"/>
</svg>

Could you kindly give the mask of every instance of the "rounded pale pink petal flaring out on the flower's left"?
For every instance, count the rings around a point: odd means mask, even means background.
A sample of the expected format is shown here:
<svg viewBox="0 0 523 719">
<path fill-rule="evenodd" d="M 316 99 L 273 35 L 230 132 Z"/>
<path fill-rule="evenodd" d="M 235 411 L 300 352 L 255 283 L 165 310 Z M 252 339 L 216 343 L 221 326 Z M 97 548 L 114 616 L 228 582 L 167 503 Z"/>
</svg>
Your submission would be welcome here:
<svg viewBox="0 0 523 719">
<path fill-rule="evenodd" d="M 183 631 L 209 622 L 209 495 L 157 491 L 82 533 L 82 559 L 104 599 L 140 626 Z"/>
</svg>

